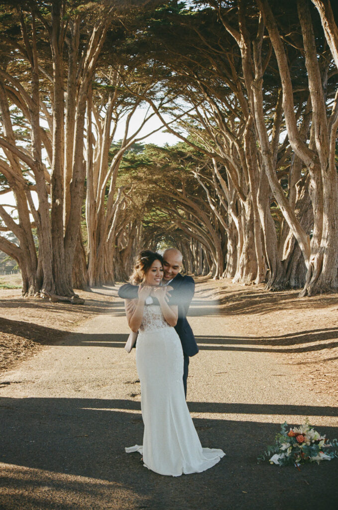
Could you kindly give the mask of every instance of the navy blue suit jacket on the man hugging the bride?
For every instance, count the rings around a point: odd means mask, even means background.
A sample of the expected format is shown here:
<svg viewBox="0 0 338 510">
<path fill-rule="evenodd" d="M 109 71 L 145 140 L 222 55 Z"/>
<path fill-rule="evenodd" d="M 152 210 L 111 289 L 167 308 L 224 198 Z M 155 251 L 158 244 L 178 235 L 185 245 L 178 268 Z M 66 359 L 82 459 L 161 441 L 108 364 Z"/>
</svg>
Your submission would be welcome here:
<svg viewBox="0 0 338 510">
<path fill-rule="evenodd" d="M 178 318 L 175 330 L 182 344 L 184 354 L 194 356 L 198 352 L 196 340 L 187 320 L 187 313 L 195 292 L 195 282 L 191 276 L 177 274 L 169 286 L 173 288 L 170 292 L 169 304 L 176 304 Z M 122 285 L 118 290 L 122 299 L 135 299 L 138 297 L 138 286 L 132 284 Z M 154 301 L 157 299 L 153 298 Z"/>
</svg>

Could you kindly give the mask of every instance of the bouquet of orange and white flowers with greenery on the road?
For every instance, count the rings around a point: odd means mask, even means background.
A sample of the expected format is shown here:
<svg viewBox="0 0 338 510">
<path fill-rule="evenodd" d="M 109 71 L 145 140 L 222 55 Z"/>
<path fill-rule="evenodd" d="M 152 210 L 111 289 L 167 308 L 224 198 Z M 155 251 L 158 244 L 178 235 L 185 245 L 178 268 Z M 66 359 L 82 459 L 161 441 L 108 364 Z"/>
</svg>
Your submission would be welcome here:
<svg viewBox="0 0 338 510">
<path fill-rule="evenodd" d="M 285 421 L 276 435 L 275 444 L 268 446 L 267 451 L 259 455 L 258 462 L 269 459 L 270 464 L 279 466 L 294 464 L 298 467 L 305 462 L 319 464 L 321 461 L 330 461 L 331 458 L 338 457 L 338 451 L 332 450 L 338 447 L 338 441 L 336 439 L 329 441 L 325 436 L 321 436 L 308 421 L 305 425 L 290 427 L 290 430 L 288 428 L 289 425 Z"/>
</svg>

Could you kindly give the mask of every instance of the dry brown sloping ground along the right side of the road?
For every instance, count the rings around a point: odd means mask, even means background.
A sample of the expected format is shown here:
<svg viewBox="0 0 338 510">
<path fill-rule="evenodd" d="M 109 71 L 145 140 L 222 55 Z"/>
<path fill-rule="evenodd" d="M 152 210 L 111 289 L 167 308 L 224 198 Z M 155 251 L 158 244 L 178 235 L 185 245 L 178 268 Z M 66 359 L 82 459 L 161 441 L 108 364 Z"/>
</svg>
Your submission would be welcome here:
<svg viewBox="0 0 338 510">
<path fill-rule="evenodd" d="M 265 292 L 263 285 L 205 281 L 204 296 L 219 299 L 221 313 L 241 334 L 297 368 L 296 386 L 330 394 L 338 403 L 338 296 L 298 297 L 298 291 Z M 246 342 L 247 343 L 247 342 Z M 297 374 L 298 373 L 298 374 Z M 293 381 L 290 381 L 293 384 Z"/>
</svg>

